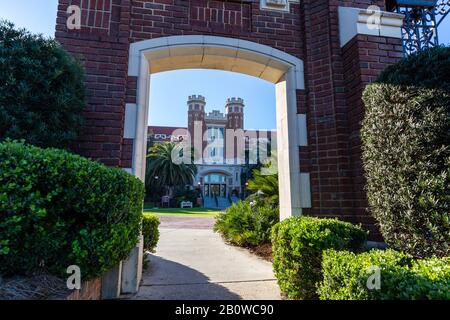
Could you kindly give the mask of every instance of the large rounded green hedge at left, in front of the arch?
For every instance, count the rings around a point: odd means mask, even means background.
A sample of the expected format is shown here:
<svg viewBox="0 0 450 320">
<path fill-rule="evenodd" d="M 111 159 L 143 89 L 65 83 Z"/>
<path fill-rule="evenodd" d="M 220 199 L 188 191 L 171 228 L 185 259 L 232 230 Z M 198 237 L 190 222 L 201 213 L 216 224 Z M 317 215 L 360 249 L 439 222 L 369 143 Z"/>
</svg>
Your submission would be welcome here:
<svg viewBox="0 0 450 320">
<path fill-rule="evenodd" d="M 83 280 L 127 257 L 140 235 L 144 187 L 121 169 L 57 149 L 0 144 L 0 274 L 37 269 Z"/>
</svg>

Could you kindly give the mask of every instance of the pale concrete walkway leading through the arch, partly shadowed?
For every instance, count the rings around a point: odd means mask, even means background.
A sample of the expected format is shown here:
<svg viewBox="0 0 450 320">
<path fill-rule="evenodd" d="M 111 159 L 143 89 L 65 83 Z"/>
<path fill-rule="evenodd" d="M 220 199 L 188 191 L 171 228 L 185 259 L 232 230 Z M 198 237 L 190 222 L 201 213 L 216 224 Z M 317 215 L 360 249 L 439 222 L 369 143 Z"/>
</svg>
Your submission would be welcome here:
<svg viewBox="0 0 450 320">
<path fill-rule="evenodd" d="M 212 231 L 213 218 L 161 220 L 157 253 L 133 299 L 280 299 L 271 263 L 225 244 Z"/>
</svg>

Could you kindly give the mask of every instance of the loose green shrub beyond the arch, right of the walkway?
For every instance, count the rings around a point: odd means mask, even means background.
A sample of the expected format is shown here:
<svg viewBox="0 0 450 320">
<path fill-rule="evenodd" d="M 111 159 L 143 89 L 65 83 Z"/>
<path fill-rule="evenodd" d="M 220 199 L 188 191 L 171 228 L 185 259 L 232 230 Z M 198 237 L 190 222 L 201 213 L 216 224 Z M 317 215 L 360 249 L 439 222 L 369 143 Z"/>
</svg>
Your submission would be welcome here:
<svg viewBox="0 0 450 320">
<path fill-rule="evenodd" d="M 233 244 L 258 246 L 270 242 L 270 230 L 278 221 L 278 208 L 239 201 L 217 216 L 214 231 Z"/>
</svg>

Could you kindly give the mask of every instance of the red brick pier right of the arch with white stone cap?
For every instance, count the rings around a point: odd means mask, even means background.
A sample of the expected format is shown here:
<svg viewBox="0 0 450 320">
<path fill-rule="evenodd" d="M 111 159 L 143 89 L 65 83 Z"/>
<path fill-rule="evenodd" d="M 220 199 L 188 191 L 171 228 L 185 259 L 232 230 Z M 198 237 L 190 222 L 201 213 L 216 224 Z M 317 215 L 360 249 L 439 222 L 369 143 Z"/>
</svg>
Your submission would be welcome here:
<svg viewBox="0 0 450 320">
<path fill-rule="evenodd" d="M 307 213 L 362 222 L 374 231 L 366 210 L 361 163 L 361 94 L 367 83 L 401 56 L 401 17 L 380 13 L 383 28 L 371 30 L 366 25 L 366 9 L 370 5 L 383 9 L 384 1 L 302 3 L 304 109 L 310 144 L 300 148 L 300 155 L 302 167 L 311 172 L 312 208 Z"/>
</svg>

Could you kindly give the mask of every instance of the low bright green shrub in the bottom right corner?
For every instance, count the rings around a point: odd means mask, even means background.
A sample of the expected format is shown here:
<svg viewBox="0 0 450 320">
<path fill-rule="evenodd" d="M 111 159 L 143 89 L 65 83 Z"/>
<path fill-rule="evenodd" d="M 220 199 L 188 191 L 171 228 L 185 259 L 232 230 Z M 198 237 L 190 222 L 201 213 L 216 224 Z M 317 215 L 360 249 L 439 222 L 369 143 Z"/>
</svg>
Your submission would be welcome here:
<svg viewBox="0 0 450 320">
<path fill-rule="evenodd" d="M 414 261 L 393 250 L 361 254 L 328 250 L 322 266 L 318 293 L 323 300 L 450 299 L 448 257 Z M 373 279 L 377 269 L 378 288 Z"/>
</svg>

